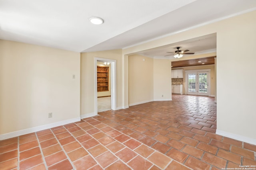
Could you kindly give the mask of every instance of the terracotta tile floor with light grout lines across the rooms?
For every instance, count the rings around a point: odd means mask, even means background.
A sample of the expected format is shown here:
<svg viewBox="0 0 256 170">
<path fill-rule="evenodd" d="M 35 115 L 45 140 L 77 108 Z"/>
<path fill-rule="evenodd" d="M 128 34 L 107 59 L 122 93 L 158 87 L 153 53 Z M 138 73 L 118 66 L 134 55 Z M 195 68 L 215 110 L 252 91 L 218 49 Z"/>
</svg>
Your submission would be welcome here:
<svg viewBox="0 0 256 170">
<path fill-rule="evenodd" d="M 256 146 L 216 135 L 214 98 L 173 95 L 0 141 L 0 170 L 217 170 L 256 165 Z"/>
</svg>

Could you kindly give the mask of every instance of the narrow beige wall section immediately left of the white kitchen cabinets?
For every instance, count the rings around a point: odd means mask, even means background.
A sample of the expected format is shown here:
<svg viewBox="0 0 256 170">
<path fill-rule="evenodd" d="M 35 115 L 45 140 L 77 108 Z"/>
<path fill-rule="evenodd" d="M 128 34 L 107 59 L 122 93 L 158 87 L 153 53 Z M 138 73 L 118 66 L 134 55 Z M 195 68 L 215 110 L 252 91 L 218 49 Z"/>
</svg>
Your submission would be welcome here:
<svg viewBox="0 0 256 170">
<path fill-rule="evenodd" d="M 171 62 L 154 59 L 154 100 L 172 100 Z M 163 95 L 163 96 L 162 96 Z"/>
</svg>

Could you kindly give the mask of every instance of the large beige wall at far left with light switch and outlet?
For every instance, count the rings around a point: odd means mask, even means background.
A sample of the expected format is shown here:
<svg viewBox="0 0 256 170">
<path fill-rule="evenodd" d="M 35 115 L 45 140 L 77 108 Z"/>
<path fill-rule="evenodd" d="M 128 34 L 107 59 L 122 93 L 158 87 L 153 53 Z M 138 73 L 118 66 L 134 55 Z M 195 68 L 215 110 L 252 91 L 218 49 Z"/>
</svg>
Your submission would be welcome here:
<svg viewBox="0 0 256 170">
<path fill-rule="evenodd" d="M 80 53 L 0 40 L 0 135 L 78 117 Z"/>
</svg>

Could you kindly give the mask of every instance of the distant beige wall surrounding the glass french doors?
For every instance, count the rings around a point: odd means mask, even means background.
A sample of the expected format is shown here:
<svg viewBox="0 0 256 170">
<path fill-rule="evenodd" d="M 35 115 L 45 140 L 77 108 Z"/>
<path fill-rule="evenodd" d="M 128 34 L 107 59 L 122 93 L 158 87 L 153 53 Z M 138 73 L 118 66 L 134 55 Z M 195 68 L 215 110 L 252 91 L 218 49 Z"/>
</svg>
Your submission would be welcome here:
<svg viewBox="0 0 256 170">
<path fill-rule="evenodd" d="M 186 70 L 202 70 L 202 69 L 211 69 L 211 77 L 210 77 L 210 85 L 211 85 L 211 92 L 209 94 L 209 96 L 215 96 L 215 90 L 216 90 L 216 86 L 215 86 L 215 81 L 216 81 L 216 77 L 215 77 L 215 69 L 214 69 L 214 64 L 211 65 L 201 65 L 201 66 L 187 66 L 187 67 L 176 67 L 176 68 L 172 68 L 172 70 L 176 70 L 176 69 L 183 69 L 183 84 L 185 85 L 185 76 Z M 186 92 L 185 86 L 183 86 L 183 92 Z"/>
</svg>

